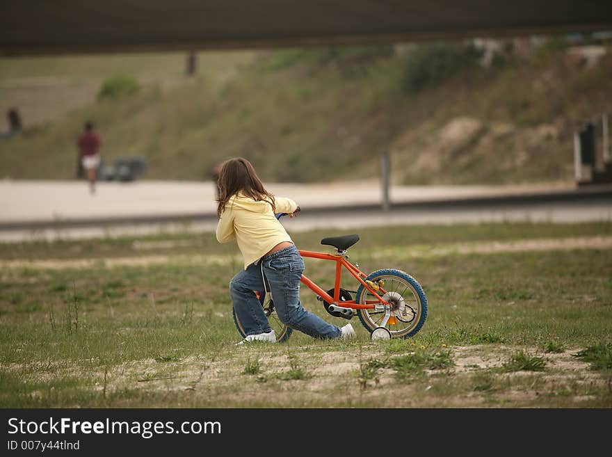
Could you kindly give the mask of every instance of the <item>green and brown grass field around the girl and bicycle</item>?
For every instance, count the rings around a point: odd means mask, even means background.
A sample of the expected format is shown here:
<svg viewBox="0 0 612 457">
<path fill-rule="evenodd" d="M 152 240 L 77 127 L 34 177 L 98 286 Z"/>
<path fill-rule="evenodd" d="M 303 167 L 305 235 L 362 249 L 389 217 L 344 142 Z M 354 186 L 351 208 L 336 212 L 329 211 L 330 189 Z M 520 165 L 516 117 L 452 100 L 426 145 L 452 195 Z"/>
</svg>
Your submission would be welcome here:
<svg viewBox="0 0 612 457">
<path fill-rule="evenodd" d="M 234 346 L 241 260 L 212 234 L 0 245 L 0 406 L 612 406 L 612 223 L 352 232 L 363 271 L 424 287 L 411 339 L 372 342 L 354 318 L 353 340 Z M 325 251 L 325 234 L 293 238 Z M 305 273 L 332 287 L 332 265 L 307 259 Z"/>
</svg>

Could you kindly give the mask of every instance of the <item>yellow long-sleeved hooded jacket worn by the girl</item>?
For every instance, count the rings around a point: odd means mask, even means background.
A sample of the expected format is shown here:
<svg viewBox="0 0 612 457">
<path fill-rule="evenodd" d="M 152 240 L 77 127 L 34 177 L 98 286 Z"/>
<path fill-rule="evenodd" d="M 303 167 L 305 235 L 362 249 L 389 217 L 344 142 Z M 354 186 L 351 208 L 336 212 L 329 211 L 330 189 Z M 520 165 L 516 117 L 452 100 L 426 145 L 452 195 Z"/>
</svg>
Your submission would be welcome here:
<svg viewBox="0 0 612 457">
<path fill-rule="evenodd" d="M 277 213 L 293 213 L 298 208 L 296 202 L 290 198 L 275 196 L 274 202 Z M 242 252 L 245 270 L 278 243 L 293 243 L 277 220 L 270 203 L 256 202 L 242 193 L 232 195 L 225 204 L 216 234 L 219 243 L 236 239 Z"/>
</svg>

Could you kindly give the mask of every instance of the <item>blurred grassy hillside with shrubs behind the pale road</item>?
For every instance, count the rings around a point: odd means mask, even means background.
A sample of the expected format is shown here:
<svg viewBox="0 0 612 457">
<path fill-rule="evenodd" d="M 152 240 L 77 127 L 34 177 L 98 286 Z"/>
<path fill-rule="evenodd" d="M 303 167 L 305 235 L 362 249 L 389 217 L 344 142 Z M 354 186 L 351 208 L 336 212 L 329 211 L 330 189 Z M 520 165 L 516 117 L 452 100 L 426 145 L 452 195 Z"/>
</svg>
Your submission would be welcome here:
<svg viewBox="0 0 612 457">
<path fill-rule="evenodd" d="M 24 115 L 22 134 L 0 141 L 0 176 L 73 178 L 74 141 L 91 119 L 106 163 L 146 157 L 144 179 L 209 179 L 234 155 L 266 181 L 368 179 L 389 150 L 396 184 L 572 180 L 575 129 L 612 111 L 609 49 L 590 63 L 551 40 L 506 47 L 488 66 L 472 51 L 447 43 L 200 53 L 192 77 L 178 54 L 1 59 L 2 98 L 45 115 L 30 124 Z M 139 90 L 98 99 L 115 74 Z"/>
</svg>

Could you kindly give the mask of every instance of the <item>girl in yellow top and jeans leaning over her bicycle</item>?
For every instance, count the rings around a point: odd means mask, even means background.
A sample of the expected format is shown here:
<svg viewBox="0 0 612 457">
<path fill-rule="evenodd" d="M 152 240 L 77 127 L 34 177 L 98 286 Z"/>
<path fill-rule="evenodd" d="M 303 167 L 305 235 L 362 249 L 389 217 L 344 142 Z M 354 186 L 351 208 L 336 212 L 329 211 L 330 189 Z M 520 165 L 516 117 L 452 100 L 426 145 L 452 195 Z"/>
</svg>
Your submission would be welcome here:
<svg viewBox="0 0 612 457">
<path fill-rule="evenodd" d="M 339 328 L 307 312 L 300 303 L 304 260 L 275 216 L 295 216 L 296 202 L 266 191 L 251 163 L 242 157 L 221 164 L 218 190 L 217 241 L 236 239 L 244 261 L 244 269 L 230 281 L 234 312 L 246 335 L 239 344 L 253 340 L 276 342 L 254 292 L 264 290 L 264 275 L 282 323 L 321 339 L 355 336 L 350 323 Z"/>
</svg>

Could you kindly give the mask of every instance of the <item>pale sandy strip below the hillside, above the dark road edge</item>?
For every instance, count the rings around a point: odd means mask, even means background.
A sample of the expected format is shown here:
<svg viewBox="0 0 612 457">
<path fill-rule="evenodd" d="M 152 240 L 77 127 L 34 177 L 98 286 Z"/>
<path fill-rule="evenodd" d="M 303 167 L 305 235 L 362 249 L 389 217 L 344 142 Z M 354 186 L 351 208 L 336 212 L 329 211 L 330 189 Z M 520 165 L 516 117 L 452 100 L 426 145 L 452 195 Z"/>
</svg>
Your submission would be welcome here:
<svg viewBox="0 0 612 457">
<path fill-rule="evenodd" d="M 376 181 L 338 184 L 267 184 L 268 190 L 309 207 L 377 205 L 382 202 Z M 392 186 L 392 202 L 436 201 L 499 195 L 525 195 L 574 191 L 571 183 L 522 186 Z M 126 216 L 189 216 L 214 214 L 211 182 L 101 182 L 91 195 L 79 181 L 0 182 L 0 224 L 21 221 Z"/>
</svg>

